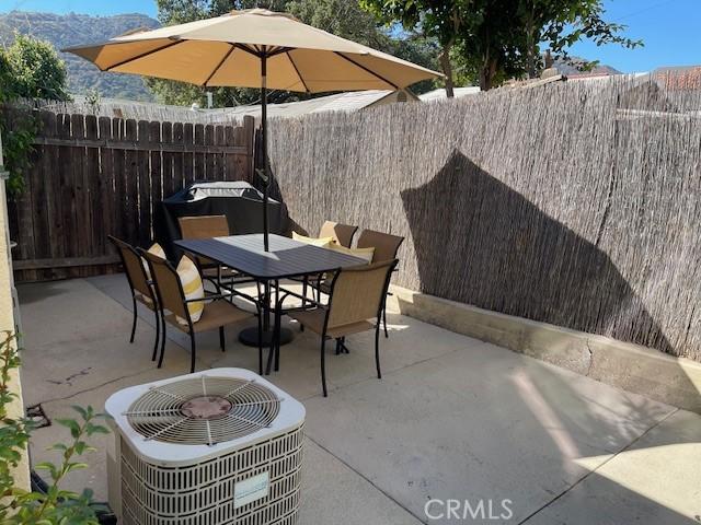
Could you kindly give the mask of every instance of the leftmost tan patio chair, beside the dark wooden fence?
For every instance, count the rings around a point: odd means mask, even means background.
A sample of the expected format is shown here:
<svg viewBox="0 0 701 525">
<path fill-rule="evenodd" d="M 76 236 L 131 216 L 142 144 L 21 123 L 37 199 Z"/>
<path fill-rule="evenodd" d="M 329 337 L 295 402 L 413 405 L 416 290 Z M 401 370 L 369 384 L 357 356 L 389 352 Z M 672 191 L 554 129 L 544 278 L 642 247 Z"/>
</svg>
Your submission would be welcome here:
<svg viewBox="0 0 701 525">
<path fill-rule="evenodd" d="M 146 273 L 143 260 L 137 253 L 136 248 L 117 237 L 113 237 L 112 235 L 107 235 L 107 238 L 117 249 L 117 254 L 119 254 L 119 259 L 122 260 L 122 266 L 124 267 L 124 271 L 127 276 L 127 282 L 129 283 L 129 290 L 131 291 L 134 320 L 131 322 L 131 336 L 129 337 L 129 342 L 134 342 L 134 336 L 136 334 L 136 320 L 139 316 L 136 303 L 139 302 L 153 312 L 153 315 L 156 316 L 156 342 L 153 343 L 153 353 L 151 354 L 151 361 L 156 361 L 158 343 L 161 337 L 161 325 L 163 323 L 163 313 L 158 307 L 156 291 Z"/>
</svg>

